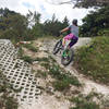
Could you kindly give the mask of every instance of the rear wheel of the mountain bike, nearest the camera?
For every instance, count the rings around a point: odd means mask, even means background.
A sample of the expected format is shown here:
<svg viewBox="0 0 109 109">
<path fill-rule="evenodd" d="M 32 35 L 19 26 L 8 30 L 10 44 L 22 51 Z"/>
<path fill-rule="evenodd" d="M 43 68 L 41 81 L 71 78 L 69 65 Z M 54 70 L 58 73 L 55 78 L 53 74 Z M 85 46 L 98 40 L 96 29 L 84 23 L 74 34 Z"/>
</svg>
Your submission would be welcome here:
<svg viewBox="0 0 109 109">
<path fill-rule="evenodd" d="M 74 51 L 73 49 L 65 49 L 61 57 L 61 63 L 63 65 L 69 65 L 73 61 Z"/>
</svg>

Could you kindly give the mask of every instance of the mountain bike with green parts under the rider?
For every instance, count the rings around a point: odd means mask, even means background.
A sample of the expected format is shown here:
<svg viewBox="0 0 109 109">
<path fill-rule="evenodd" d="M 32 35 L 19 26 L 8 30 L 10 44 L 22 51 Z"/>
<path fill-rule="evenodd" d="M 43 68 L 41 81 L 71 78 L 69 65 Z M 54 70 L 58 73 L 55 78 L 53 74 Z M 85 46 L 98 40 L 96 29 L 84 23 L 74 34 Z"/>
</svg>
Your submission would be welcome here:
<svg viewBox="0 0 109 109">
<path fill-rule="evenodd" d="M 59 51 L 62 52 L 61 53 L 61 63 L 63 65 L 69 65 L 73 61 L 74 50 L 72 48 L 69 48 L 68 45 L 66 45 L 66 48 L 63 48 L 62 39 L 59 39 L 53 47 L 52 53 L 57 55 Z"/>
</svg>

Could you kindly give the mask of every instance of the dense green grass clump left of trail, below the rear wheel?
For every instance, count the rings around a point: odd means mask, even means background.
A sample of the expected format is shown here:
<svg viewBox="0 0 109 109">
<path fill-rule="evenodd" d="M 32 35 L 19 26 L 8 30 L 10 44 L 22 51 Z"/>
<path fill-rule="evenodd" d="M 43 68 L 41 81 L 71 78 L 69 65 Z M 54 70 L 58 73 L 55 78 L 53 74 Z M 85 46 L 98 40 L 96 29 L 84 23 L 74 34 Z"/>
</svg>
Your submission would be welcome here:
<svg viewBox="0 0 109 109">
<path fill-rule="evenodd" d="M 57 64 L 52 64 L 52 66 L 49 68 L 49 74 L 56 78 L 52 85 L 57 90 L 62 92 L 64 89 L 69 89 L 70 85 L 81 86 L 81 83 L 75 76 L 69 75 L 69 73 L 63 71 Z"/>
</svg>

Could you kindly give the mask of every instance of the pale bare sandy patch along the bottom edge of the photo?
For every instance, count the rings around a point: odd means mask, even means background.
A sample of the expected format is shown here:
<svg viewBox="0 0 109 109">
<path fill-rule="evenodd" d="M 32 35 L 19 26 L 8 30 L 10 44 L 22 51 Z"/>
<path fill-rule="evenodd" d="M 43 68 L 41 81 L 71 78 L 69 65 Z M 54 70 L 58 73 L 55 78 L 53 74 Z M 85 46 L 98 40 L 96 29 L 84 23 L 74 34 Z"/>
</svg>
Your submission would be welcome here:
<svg viewBox="0 0 109 109">
<path fill-rule="evenodd" d="M 55 96 L 43 94 L 37 102 L 33 102 L 32 106 L 23 105 L 20 109 L 69 109 L 68 106 L 68 100 L 58 100 Z"/>
</svg>

